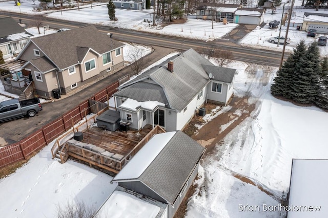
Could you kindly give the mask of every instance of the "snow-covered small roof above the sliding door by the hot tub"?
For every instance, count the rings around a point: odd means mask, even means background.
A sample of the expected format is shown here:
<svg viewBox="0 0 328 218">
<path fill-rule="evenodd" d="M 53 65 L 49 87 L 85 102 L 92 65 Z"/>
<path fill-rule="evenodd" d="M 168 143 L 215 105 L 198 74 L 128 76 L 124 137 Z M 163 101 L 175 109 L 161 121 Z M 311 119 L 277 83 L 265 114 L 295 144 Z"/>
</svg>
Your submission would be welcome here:
<svg viewBox="0 0 328 218">
<path fill-rule="evenodd" d="M 131 98 L 128 98 L 124 103 L 119 105 L 119 108 L 137 112 L 140 108 L 148 110 L 148 111 L 154 111 L 155 108 L 158 106 L 165 106 L 165 104 L 160 103 L 158 101 L 139 102 L 139 101 L 133 100 Z"/>
</svg>

